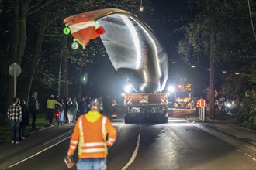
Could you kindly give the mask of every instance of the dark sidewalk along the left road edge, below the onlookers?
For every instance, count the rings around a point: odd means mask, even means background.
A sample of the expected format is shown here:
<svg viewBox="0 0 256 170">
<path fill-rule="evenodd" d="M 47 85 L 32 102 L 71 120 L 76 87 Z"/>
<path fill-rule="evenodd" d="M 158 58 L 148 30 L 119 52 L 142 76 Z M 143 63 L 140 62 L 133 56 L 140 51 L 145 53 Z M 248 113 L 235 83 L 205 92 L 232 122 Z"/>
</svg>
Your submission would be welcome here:
<svg viewBox="0 0 256 170">
<path fill-rule="evenodd" d="M 74 124 L 64 124 L 61 127 L 44 128 L 26 135 L 19 144 L 4 142 L 0 145 L 0 169 L 7 168 L 14 162 L 19 162 L 30 154 L 40 151 L 42 146 L 48 146 L 60 138 L 67 138 L 73 131 Z"/>
</svg>

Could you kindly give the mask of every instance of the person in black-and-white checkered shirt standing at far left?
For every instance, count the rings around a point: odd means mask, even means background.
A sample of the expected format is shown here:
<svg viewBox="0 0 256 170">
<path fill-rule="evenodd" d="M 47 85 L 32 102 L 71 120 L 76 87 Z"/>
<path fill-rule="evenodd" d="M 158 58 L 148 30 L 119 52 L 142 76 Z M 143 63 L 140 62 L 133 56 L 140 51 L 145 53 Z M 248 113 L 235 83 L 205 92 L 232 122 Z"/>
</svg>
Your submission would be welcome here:
<svg viewBox="0 0 256 170">
<path fill-rule="evenodd" d="M 7 117 L 10 121 L 12 144 L 19 144 L 19 126 L 22 121 L 22 107 L 17 104 L 18 99 L 12 99 L 12 105 L 7 110 Z"/>
</svg>

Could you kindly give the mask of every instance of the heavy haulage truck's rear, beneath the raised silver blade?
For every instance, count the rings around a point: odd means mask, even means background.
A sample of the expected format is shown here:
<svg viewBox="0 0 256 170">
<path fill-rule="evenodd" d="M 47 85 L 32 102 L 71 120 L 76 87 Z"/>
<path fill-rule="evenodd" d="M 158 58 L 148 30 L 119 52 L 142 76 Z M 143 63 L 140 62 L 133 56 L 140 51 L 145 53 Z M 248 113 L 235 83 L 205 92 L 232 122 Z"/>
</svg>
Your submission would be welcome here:
<svg viewBox="0 0 256 170">
<path fill-rule="evenodd" d="M 167 104 L 167 93 L 126 93 L 124 121 L 125 123 L 167 123 Z"/>
</svg>

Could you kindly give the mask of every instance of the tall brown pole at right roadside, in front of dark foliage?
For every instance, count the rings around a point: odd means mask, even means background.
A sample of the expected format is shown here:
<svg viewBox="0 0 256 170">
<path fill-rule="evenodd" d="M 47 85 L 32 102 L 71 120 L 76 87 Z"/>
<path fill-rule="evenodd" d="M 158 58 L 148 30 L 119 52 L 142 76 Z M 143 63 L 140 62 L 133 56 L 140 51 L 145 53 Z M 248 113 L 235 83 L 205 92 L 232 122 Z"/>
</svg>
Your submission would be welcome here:
<svg viewBox="0 0 256 170">
<path fill-rule="evenodd" d="M 214 26 L 211 26 L 210 78 L 209 78 L 209 118 L 214 119 Z"/>
</svg>

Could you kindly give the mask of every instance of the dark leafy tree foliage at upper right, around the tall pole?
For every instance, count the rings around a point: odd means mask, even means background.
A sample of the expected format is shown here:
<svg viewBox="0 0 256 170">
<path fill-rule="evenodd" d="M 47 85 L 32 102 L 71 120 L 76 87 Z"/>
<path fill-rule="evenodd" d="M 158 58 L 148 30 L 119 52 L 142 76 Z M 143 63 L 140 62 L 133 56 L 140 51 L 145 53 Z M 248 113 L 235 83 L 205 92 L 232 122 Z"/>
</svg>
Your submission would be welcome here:
<svg viewBox="0 0 256 170">
<path fill-rule="evenodd" d="M 254 33 L 245 1 L 189 1 L 199 10 L 194 22 L 182 26 L 184 38 L 178 53 L 187 63 L 209 62 L 211 28 L 214 27 L 215 59 L 221 65 L 231 60 L 251 60 L 256 54 Z M 255 19 L 255 14 L 253 15 Z M 255 23 L 254 23 L 255 27 Z"/>
</svg>

